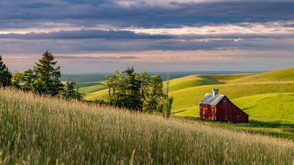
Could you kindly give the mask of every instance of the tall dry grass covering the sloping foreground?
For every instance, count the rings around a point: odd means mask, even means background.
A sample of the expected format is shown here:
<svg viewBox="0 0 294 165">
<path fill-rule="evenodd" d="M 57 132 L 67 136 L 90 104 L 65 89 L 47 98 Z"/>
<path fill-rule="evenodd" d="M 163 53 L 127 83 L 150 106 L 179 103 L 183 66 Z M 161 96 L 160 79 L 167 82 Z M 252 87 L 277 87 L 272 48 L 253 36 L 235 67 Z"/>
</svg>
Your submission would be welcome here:
<svg viewBox="0 0 294 165">
<path fill-rule="evenodd" d="M 294 143 L 0 89 L 2 164 L 292 164 Z"/>
</svg>

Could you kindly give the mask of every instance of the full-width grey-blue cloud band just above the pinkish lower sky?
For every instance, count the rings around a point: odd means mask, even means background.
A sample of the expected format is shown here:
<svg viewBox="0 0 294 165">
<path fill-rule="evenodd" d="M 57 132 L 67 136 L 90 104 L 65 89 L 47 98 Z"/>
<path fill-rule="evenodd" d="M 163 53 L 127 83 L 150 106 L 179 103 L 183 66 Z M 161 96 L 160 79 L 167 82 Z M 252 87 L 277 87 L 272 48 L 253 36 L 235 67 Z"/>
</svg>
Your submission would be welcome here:
<svg viewBox="0 0 294 165">
<path fill-rule="evenodd" d="M 291 35 L 290 35 L 291 36 Z M 239 39 L 239 36 L 218 36 L 224 39 L 166 39 L 166 40 L 109 40 L 109 39 L 54 39 L 54 40 L 0 40 L 1 54 L 36 54 L 50 50 L 54 54 L 87 54 L 92 52 L 140 52 L 149 50 L 195 51 L 195 50 L 264 50 L 294 51 L 292 39 Z M 198 36 L 199 37 L 199 36 Z M 204 38 L 205 36 L 202 36 Z M 243 36 L 244 37 L 244 36 Z M 268 36 L 266 36 L 268 37 Z M 260 39 L 258 39 L 260 38 Z M 237 41 L 235 41 L 237 40 Z"/>
</svg>

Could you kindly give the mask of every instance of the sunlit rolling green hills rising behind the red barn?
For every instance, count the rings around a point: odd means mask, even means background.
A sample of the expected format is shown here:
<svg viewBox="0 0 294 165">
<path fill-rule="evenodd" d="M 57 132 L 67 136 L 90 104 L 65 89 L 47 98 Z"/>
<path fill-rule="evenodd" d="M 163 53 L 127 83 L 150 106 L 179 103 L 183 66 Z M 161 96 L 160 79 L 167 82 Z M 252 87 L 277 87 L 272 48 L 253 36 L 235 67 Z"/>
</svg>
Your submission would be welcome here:
<svg viewBox="0 0 294 165">
<path fill-rule="evenodd" d="M 199 115 L 199 102 L 211 89 L 220 89 L 220 94 L 229 97 L 238 107 L 249 113 L 251 119 L 291 120 L 294 109 L 288 102 L 293 100 L 294 67 L 261 74 L 198 74 L 170 80 L 169 94 L 174 96 L 174 115 Z M 164 83 L 165 85 L 165 83 Z M 93 89 L 93 90 L 90 90 Z M 85 90 L 86 91 L 86 90 Z M 262 100 L 264 94 L 268 98 Z M 279 94 L 286 94 L 281 95 Z M 87 87 L 86 100 L 104 99 L 107 89 L 101 86 Z M 260 99 L 259 99 L 260 98 Z M 249 107 L 250 104 L 254 105 Z M 277 101 L 278 100 L 278 101 Z M 246 103 L 249 102 L 249 103 Z M 268 106 L 272 102 L 279 102 Z M 271 113 L 264 113 L 266 109 Z M 277 108 L 280 109 L 277 111 Z"/>
</svg>

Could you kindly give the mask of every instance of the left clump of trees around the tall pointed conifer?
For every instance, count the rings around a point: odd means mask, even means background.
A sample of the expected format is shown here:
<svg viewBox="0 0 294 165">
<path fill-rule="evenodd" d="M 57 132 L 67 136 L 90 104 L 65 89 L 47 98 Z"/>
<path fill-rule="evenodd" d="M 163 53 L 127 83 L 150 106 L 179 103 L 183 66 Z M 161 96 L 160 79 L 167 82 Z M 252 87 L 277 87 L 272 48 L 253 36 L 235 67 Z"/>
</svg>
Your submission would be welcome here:
<svg viewBox="0 0 294 165">
<path fill-rule="evenodd" d="M 76 98 L 77 100 L 81 100 L 83 94 L 78 91 L 76 83 L 67 80 L 64 85 L 59 80 L 61 78 L 60 67 L 55 67 L 57 61 L 54 61 L 54 58 L 55 56 L 47 50 L 43 53 L 42 58 L 39 59 L 39 63 L 35 63 L 36 66 L 33 69 L 28 69 L 23 73 L 10 73 L 11 79 L 8 85 L 11 85 L 15 89 L 32 91 L 36 94 L 48 94 L 61 98 Z M 21 83 L 22 85 L 20 85 Z M 5 85 L 2 86 L 5 87 Z"/>
</svg>

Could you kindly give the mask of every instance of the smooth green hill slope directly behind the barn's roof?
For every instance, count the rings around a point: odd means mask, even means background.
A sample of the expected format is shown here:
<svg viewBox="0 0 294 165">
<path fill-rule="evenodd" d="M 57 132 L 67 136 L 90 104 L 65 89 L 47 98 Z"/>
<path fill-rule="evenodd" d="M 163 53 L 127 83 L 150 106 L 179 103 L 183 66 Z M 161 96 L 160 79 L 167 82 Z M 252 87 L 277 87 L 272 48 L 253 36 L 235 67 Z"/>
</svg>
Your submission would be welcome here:
<svg viewBox="0 0 294 165">
<path fill-rule="evenodd" d="M 294 93 L 294 82 L 269 82 L 269 83 L 236 83 L 224 85 L 203 85 L 170 92 L 174 96 L 173 112 L 185 111 L 199 105 L 205 94 L 211 94 L 211 89 L 220 89 L 220 94 L 229 99 L 259 94 Z M 199 113 L 198 113 L 199 114 Z M 186 114 L 187 115 L 187 114 Z"/>
</svg>

